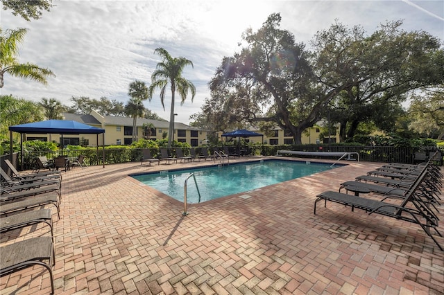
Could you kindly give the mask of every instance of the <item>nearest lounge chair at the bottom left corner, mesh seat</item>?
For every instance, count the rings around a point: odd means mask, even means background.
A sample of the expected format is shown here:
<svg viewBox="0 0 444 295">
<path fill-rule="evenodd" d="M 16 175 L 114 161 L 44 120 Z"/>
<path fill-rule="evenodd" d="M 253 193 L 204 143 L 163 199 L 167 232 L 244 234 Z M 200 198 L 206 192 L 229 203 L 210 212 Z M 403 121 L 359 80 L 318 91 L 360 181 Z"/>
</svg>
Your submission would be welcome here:
<svg viewBox="0 0 444 295">
<path fill-rule="evenodd" d="M 51 294 L 54 294 L 52 267 L 55 265 L 56 253 L 53 241 L 49 237 L 37 237 L 0 247 L 0 276 L 41 265 L 49 271 Z M 48 263 L 44 260 L 49 260 Z"/>
</svg>

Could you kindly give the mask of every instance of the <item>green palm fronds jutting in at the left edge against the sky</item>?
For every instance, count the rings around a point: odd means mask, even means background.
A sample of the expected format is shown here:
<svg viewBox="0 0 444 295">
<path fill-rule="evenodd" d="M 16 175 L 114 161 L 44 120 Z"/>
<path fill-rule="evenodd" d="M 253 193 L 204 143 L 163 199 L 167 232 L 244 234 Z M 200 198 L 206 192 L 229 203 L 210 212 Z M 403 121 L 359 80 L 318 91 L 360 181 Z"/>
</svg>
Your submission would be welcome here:
<svg viewBox="0 0 444 295">
<path fill-rule="evenodd" d="M 28 78 L 42 84 L 47 84 L 46 77 L 53 76 L 49 69 L 42 69 L 36 64 L 27 62 L 20 64 L 17 60 L 19 55 L 18 44 L 23 42 L 26 28 L 17 28 L 17 30 L 3 30 L 0 28 L 0 88 L 3 88 L 3 75 L 9 73 L 19 78 Z"/>
</svg>

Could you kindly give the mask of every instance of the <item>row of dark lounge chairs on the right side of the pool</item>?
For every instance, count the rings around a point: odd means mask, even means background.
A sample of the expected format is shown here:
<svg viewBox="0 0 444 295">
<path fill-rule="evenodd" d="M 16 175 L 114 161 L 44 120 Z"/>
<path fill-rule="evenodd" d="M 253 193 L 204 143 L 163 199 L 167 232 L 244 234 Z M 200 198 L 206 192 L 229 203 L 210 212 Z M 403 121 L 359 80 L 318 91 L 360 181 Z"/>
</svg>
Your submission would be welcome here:
<svg viewBox="0 0 444 295">
<path fill-rule="evenodd" d="M 316 204 L 323 200 L 325 207 L 330 201 L 350 206 L 352 211 L 358 208 L 368 215 L 378 214 L 411 222 L 418 224 L 444 251 L 434 235 L 443 237 L 437 229 L 442 179 L 441 170 L 434 166 L 433 161 L 418 165 L 388 163 L 367 175 L 356 177 L 355 181 L 343 182 L 339 192 L 326 191 L 317 195 L 314 214 Z M 341 193 L 343 189 L 355 194 Z M 362 193 L 372 193 L 372 197 L 363 197 Z"/>
</svg>

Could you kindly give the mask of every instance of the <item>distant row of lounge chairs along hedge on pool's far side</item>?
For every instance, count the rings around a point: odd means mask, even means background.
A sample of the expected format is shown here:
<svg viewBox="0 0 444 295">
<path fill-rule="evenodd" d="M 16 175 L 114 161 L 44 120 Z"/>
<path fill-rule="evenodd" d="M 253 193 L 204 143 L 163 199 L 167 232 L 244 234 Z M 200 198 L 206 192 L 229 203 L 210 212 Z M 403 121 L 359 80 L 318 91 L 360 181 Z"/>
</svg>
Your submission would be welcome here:
<svg viewBox="0 0 444 295">
<path fill-rule="evenodd" d="M 166 148 L 161 148 L 160 158 L 155 158 L 151 155 L 151 150 L 147 148 L 143 149 L 140 165 L 144 162 L 148 162 L 149 166 L 151 166 L 151 163 L 157 163 L 157 165 L 160 165 L 160 161 L 165 161 L 165 163 L 169 164 L 171 161 L 177 163 L 178 160 L 180 163 L 182 163 L 182 161 L 185 163 L 185 161 L 200 161 L 200 159 L 206 161 L 207 159 L 215 160 L 218 158 L 229 159 L 229 157 L 239 157 L 239 154 L 231 153 L 228 147 L 223 147 L 223 150 L 214 150 L 214 154 L 209 154 L 207 147 L 202 147 L 199 154 L 196 153 L 194 148 L 189 149 L 189 154 L 185 154 L 180 147 L 176 147 L 174 150 L 176 152 L 175 156 L 170 155 Z"/>
</svg>

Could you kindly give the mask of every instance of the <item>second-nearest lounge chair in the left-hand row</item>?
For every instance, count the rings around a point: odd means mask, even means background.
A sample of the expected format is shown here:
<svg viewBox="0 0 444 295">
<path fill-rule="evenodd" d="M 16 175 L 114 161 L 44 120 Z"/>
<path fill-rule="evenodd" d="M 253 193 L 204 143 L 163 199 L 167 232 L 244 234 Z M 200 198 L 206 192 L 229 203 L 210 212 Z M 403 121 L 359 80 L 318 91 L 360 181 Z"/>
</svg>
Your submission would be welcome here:
<svg viewBox="0 0 444 295">
<path fill-rule="evenodd" d="M 6 217 L 1 217 L 0 233 L 6 233 L 7 231 L 12 231 L 14 229 L 22 229 L 26 226 L 39 224 L 41 222 L 49 225 L 49 228 L 51 229 L 51 237 L 54 240 L 53 219 L 51 217 L 51 210 L 49 209 L 26 211 Z"/>
</svg>

